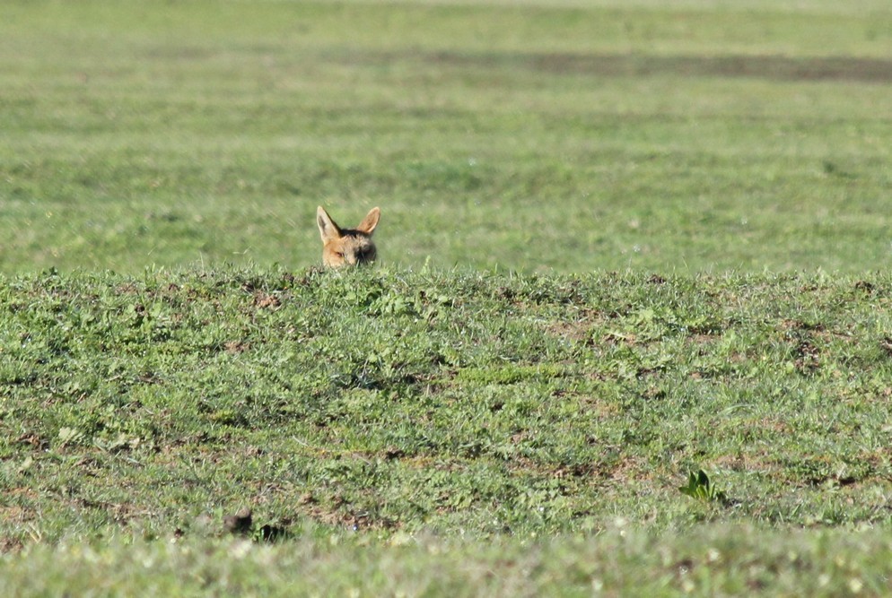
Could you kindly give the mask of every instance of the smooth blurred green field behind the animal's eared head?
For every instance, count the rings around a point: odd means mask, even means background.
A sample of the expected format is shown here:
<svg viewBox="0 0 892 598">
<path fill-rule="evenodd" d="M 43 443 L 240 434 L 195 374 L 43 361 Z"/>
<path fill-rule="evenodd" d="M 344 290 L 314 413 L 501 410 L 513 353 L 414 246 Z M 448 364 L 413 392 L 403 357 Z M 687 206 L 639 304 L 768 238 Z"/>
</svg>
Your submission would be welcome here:
<svg viewBox="0 0 892 598">
<path fill-rule="evenodd" d="M 888 263 L 879 3 L 7 3 L 0 267 Z M 353 223 L 353 222 L 351 222 Z"/>
</svg>

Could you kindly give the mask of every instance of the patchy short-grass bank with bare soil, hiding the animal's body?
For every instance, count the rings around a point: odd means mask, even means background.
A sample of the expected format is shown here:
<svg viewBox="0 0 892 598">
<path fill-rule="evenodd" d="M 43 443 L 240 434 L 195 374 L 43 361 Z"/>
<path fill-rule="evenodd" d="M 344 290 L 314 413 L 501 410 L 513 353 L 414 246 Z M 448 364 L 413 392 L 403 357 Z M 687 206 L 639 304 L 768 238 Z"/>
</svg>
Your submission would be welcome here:
<svg viewBox="0 0 892 598">
<path fill-rule="evenodd" d="M 555 576 L 619 592 L 632 570 L 560 564 L 617 542 L 628 567 L 659 562 L 653 583 L 676 589 L 818 587 L 820 569 L 830 594 L 848 568 L 869 587 L 890 573 L 892 561 L 856 550 L 890 542 L 858 531 L 892 521 L 886 275 L 252 268 L 48 272 L 2 289 L 0 539 L 25 555 L 4 560 L 19 581 L 56 550 L 85 571 L 91 559 L 175 568 L 168 558 L 204 570 L 192 561 L 202 546 L 254 554 L 213 543 L 245 507 L 258 542 L 372 550 L 350 564 L 319 554 L 310 584 L 415 555 L 395 566 L 402 581 L 349 581 L 369 593 L 414 594 L 411 571 L 438 550 L 508 567 L 496 585 Z M 726 499 L 679 491 L 699 469 Z M 792 556 L 760 545 L 802 528 L 816 532 L 785 538 Z M 294 558 L 256 550 L 254 575 Z M 828 554 L 846 564 L 821 568 Z M 418 583 L 485 577 L 468 558 Z M 538 564 L 512 572 L 513 559 Z M 678 573 L 703 559 L 695 576 Z M 225 585 L 219 567 L 206 575 Z M 109 583 L 141 574 L 121 575 Z"/>
</svg>

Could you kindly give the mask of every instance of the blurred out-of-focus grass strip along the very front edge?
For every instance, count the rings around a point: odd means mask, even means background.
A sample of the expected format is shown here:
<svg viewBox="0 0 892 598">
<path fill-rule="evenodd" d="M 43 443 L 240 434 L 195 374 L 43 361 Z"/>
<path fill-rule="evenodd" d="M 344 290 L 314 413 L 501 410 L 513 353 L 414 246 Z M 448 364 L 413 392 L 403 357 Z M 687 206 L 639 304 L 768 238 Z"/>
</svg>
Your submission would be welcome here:
<svg viewBox="0 0 892 598">
<path fill-rule="evenodd" d="M 37 547 L 0 589 L 30 595 L 809 595 L 888 594 L 888 534 L 714 528 L 661 539 L 615 528 L 542 542 L 302 538 Z M 57 567 L 42 568 L 53 559 Z M 76 572 L 71 575 L 70 572 Z M 10 595 L 7 593 L 7 595 Z M 19 594 L 21 595 L 21 594 Z"/>
</svg>

